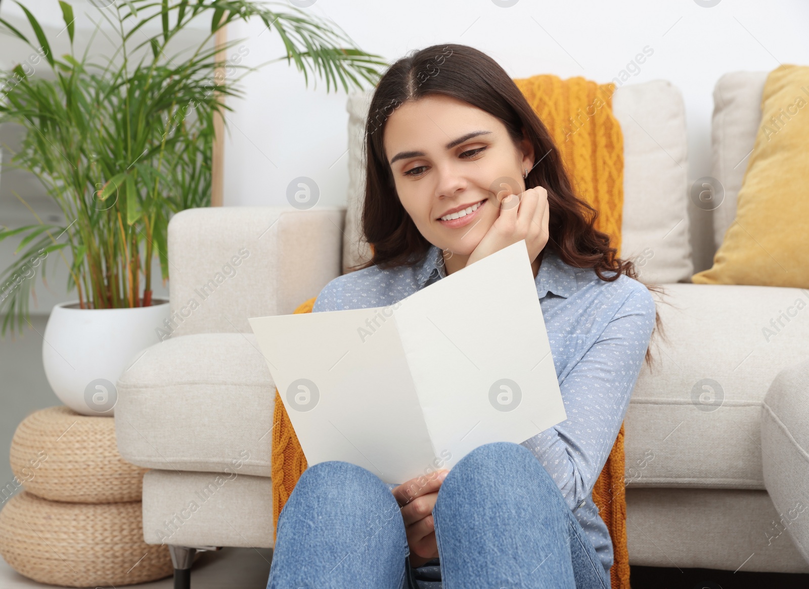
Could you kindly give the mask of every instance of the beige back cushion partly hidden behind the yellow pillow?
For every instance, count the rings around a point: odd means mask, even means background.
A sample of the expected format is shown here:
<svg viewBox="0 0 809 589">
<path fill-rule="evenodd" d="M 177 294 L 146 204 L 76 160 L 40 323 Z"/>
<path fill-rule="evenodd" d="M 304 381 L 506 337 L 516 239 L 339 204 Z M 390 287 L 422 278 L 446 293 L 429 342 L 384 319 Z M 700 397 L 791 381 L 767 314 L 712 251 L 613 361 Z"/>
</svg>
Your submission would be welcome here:
<svg viewBox="0 0 809 589">
<path fill-rule="evenodd" d="M 730 72 L 714 86 L 711 121 L 711 174 L 722 183 L 725 196 L 714 209 L 714 244 L 722 245 L 727 228 L 736 218 L 736 196 L 742 187 L 748 157 L 761 122 L 761 94 L 768 72 Z"/>
</svg>

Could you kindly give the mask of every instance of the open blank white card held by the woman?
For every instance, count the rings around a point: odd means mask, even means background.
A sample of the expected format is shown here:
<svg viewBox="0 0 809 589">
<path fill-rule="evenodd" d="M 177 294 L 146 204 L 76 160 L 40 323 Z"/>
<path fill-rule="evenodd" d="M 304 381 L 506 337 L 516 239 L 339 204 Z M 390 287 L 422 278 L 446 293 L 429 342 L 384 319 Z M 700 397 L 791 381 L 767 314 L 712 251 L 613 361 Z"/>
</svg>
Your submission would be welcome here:
<svg viewBox="0 0 809 589">
<path fill-rule="evenodd" d="M 567 419 L 524 240 L 394 305 L 249 321 L 309 465 L 401 483 Z"/>
</svg>

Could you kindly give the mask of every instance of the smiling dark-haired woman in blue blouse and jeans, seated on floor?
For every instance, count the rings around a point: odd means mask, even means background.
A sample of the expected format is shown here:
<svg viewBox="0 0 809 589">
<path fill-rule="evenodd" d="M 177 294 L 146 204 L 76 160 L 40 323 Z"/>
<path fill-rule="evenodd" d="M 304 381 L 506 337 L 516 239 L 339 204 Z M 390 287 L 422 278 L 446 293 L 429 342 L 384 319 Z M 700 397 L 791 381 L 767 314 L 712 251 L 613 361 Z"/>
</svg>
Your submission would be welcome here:
<svg viewBox="0 0 809 589">
<path fill-rule="evenodd" d="M 525 240 L 568 419 L 400 485 L 342 461 L 312 465 L 280 515 L 268 588 L 610 587 L 592 488 L 650 360 L 649 288 L 594 229 L 518 87 L 477 49 L 396 61 L 365 146 L 372 258 L 328 283 L 313 311 L 392 305 Z"/>
</svg>

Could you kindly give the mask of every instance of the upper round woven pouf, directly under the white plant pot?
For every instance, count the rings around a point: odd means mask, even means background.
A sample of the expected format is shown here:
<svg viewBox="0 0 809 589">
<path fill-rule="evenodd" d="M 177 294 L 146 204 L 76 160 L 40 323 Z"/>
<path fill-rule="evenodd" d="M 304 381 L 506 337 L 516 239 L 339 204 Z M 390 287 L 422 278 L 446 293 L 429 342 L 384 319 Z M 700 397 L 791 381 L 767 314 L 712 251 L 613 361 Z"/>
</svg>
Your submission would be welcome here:
<svg viewBox="0 0 809 589">
<path fill-rule="evenodd" d="M 66 406 L 23 419 L 11 441 L 11 470 L 25 490 L 52 501 L 140 501 L 143 473 L 118 453 L 115 419 Z"/>
</svg>

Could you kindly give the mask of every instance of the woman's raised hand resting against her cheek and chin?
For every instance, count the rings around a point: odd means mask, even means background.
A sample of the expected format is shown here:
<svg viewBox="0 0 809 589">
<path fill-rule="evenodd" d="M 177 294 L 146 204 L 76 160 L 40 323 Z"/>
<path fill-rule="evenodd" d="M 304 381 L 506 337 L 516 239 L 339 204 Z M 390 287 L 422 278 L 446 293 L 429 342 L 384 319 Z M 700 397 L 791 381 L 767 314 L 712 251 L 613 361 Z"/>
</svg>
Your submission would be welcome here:
<svg viewBox="0 0 809 589">
<path fill-rule="evenodd" d="M 548 191 L 541 186 L 528 188 L 521 195 L 500 191 L 500 214 L 489 231 L 472 250 L 466 265 L 524 239 L 528 259 L 533 264 L 548 243 Z"/>
</svg>

